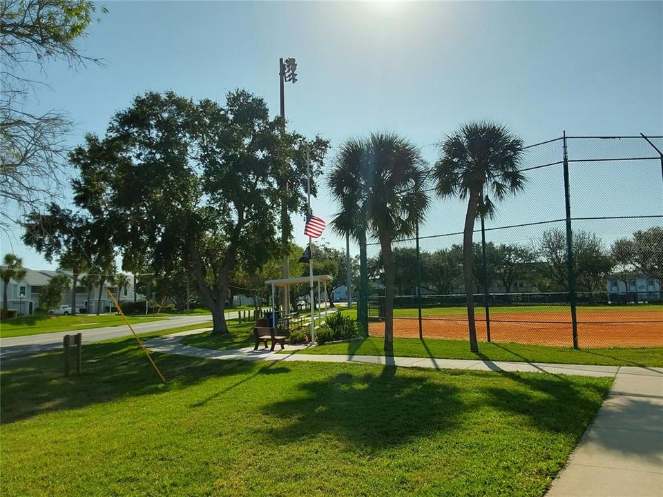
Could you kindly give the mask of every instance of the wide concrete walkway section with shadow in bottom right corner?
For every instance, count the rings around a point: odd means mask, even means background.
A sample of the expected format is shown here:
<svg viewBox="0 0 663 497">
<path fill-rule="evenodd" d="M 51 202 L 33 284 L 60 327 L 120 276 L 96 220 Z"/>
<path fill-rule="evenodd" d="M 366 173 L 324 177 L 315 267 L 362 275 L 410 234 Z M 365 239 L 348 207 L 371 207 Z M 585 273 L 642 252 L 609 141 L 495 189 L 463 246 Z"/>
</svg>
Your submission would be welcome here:
<svg viewBox="0 0 663 497">
<path fill-rule="evenodd" d="M 663 371 L 621 367 L 547 497 L 663 497 Z"/>
</svg>

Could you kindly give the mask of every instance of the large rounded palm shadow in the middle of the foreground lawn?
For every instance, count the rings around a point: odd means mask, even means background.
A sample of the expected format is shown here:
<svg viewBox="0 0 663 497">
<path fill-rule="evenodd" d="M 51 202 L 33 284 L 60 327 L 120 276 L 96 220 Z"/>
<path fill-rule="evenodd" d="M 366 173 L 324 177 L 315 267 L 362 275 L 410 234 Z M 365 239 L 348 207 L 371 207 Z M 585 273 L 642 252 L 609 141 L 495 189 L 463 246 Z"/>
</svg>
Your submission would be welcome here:
<svg viewBox="0 0 663 497">
<path fill-rule="evenodd" d="M 333 433 L 352 445 L 384 449 L 426 433 L 450 430 L 462 413 L 459 389 L 418 373 L 396 375 L 385 366 L 381 374 L 340 373 L 334 378 L 302 382 L 302 396 L 265 407 L 274 418 L 265 427 L 277 444 Z"/>
</svg>

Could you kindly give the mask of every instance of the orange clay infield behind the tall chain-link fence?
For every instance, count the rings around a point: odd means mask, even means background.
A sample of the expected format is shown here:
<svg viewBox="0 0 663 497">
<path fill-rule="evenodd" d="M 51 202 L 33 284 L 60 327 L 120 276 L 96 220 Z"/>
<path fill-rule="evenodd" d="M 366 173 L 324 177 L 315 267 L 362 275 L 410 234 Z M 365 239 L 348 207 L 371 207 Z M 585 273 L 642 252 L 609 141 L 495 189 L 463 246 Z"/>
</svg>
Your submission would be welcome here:
<svg viewBox="0 0 663 497">
<path fill-rule="evenodd" d="M 477 338 L 486 342 L 486 319 L 477 312 Z M 663 347 L 662 311 L 577 310 L 578 344 L 585 348 Z M 424 338 L 468 340 L 467 314 L 426 315 L 422 320 Z M 384 322 L 369 323 L 369 335 L 384 336 Z M 419 338 L 417 318 L 394 318 L 394 336 Z M 572 347 L 570 311 L 490 313 L 492 342 Z"/>
</svg>

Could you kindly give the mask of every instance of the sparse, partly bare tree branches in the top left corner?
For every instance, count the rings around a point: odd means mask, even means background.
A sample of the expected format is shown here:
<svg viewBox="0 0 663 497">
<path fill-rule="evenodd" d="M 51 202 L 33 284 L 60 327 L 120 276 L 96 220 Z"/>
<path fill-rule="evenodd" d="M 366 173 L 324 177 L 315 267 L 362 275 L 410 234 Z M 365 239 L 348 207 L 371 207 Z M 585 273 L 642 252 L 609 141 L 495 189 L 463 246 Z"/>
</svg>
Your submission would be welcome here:
<svg viewBox="0 0 663 497">
<path fill-rule="evenodd" d="M 66 184 L 64 141 L 70 120 L 59 110 L 32 110 L 44 81 L 32 79 L 26 67 L 41 67 L 46 61 L 66 61 L 71 68 L 99 64 L 76 44 L 97 9 L 86 0 L 0 3 L 0 228 L 15 222 L 14 208 L 18 215 L 41 210 Z"/>
</svg>

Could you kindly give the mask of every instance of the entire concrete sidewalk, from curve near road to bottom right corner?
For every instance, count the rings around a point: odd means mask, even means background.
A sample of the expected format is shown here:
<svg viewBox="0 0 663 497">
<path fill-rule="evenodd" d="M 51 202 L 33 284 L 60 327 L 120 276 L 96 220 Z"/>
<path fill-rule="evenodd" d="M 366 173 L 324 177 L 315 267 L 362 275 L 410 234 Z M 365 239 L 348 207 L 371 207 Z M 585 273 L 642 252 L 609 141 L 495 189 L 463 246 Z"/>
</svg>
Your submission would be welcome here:
<svg viewBox="0 0 663 497">
<path fill-rule="evenodd" d="M 252 347 L 218 351 L 180 343 L 183 331 L 146 341 L 153 351 L 217 360 L 352 362 L 398 367 L 523 371 L 615 378 L 608 398 L 546 497 L 663 497 L 663 368 L 588 366 L 378 355 L 283 354 Z M 303 347 L 289 346 L 296 351 Z"/>
</svg>

